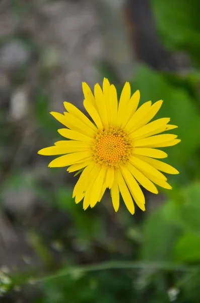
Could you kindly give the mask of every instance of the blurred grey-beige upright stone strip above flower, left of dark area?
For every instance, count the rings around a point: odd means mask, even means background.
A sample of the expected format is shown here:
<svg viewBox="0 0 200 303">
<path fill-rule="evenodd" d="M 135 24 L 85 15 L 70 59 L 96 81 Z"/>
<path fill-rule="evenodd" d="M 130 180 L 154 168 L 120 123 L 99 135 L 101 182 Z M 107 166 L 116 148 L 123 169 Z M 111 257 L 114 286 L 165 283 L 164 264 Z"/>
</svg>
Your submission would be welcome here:
<svg viewBox="0 0 200 303">
<path fill-rule="evenodd" d="M 124 21 L 125 0 L 96 0 L 95 5 L 102 20 L 106 61 L 120 81 L 128 81 L 134 76 L 136 62 Z"/>
</svg>

